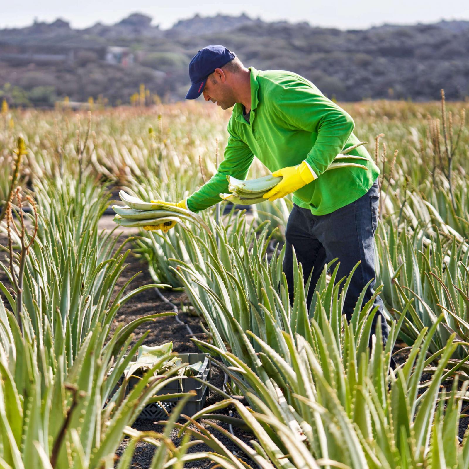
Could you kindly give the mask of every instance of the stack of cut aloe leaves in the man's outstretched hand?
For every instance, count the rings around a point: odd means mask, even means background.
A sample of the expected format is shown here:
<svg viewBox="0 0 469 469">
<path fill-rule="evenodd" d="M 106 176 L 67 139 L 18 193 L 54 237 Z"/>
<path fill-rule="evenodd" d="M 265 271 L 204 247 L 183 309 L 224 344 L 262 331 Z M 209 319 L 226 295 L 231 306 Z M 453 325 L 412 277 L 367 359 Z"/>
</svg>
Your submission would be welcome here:
<svg viewBox="0 0 469 469">
<path fill-rule="evenodd" d="M 142 228 L 148 226 L 166 225 L 170 226 L 174 221 L 184 229 L 189 229 L 185 222 L 198 223 L 208 233 L 210 228 L 197 214 L 180 207 L 162 203 L 145 202 L 138 197 L 131 196 L 121 190 L 119 197 L 125 206 L 113 205 L 116 212 L 114 221 L 122 227 Z"/>
</svg>

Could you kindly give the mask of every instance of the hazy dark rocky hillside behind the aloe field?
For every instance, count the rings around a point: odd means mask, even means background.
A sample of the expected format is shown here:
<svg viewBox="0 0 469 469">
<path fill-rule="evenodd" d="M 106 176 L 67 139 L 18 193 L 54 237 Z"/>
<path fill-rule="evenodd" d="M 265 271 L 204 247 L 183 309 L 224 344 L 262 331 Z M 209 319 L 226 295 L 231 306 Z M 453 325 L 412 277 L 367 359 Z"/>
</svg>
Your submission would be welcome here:
<svg viewBox="0 0 469 469">
<path fill-rule="evenodd" d="M 144 83 L 166 100 L 182 99 L 190 58 L 213 43 L 234 50 L 246 66 L 300 73 L 338 100 L 429 100 L 442 87 L 448 99 L 469 96 L 469 21 L 342 31 L 196 15 L 161 30 L 136 13 L 83 30 L 62 19 L 0 30 L 0 97 L 46 105 L 102 95 L 118 104 Z"/>
</svg>

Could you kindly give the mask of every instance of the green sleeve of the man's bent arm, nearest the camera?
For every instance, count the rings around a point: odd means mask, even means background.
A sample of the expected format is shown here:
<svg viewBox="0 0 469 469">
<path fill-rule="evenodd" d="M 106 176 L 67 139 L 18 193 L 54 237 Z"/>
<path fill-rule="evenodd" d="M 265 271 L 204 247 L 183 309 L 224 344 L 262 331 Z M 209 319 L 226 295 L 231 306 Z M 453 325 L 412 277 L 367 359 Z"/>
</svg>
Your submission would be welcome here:
<svg viewBox="0 0 469 469">
<path fill-rule="evenodd" d="M 342 108 L 326 98 L 312 83 L 290 83 L 278 101 L 280 117 L 295 129 L 318 136 L 303 160 L 320 176 L 344 148 L 355 127 Z"/>
</svg>

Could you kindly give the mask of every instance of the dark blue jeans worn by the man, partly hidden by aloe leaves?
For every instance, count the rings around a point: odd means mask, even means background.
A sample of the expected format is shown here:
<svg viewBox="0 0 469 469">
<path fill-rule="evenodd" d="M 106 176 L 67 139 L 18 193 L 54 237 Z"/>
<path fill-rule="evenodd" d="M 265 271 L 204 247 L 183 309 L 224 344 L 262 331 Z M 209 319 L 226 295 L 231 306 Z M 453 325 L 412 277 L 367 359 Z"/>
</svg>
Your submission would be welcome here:
<svg viewBox="0 0 469 469">
<path fill-rule="evenodd" d="M 363 304 L 367 303 L 374 293 L 375 286 L 375 231 L 378 227 L 378 181 L 371 189 L 355 202 L 346 205 L 327 215 L 313 215 L 310 210 L 293 206 L 288 217 L 285 237 L 287 240 L 283 271 L 287 276 L 290 300 L 293 298 L 293 256 L 292 246 L 295 247 L 298 262 L 303 265 L 303 275 L 308 279 L 311 269 L 311 287 L 307 297 L 308 308 L 311 303 L 314 287 L 324 265 L 336 257 L 340 266 L 337 280 L 348 276 L 358 261 L 345 297 L 344 313 L 350 320 L 358 296 L 363 287 L 371 284 L 366 290 Z M 345 282 L 342 282 L 342 285 Z M 383 342 L 386 344 L 388 328 L 382 314 L 383 301 L 377 296 L 374 305 L 378 305 L 378 313 L 374 318 L 371 334 L 375 331 L 378 318 L 381 320 Z M 371 344 L 371 339 L 370 339 Z"/>
</svg>

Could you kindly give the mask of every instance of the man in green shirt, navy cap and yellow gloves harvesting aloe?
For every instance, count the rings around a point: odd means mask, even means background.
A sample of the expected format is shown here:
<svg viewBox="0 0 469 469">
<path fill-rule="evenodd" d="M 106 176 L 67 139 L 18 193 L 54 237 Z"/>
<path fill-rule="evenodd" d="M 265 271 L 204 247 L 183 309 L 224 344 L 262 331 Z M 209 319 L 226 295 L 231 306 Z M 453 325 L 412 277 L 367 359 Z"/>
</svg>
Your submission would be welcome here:
<svg viewBox="0 0 469 469">
<path fill-rule="evenodd" d="M 201 94 L 222 109 L 232 106 L 228 123 L 225 158 L 218 172 L 197 192 L 177 205 L 193 212 L 220 202 L 227 192 L 227 174 L 245 179 L 254 155 L 274 176 L 282 180 L 265 194 L 275 200 L 293 193 L 293 210 L 285 233 L 283 269 L 288 286 L 293 285 L 293 251 L 303 265 L 305 278 L 313 269 L 314 287 L 325 263 L 338 257 L 337 279 L 352 277 L 344 312 L 350 319 L 363 287 L 369 284 L 364 303 L 373 295 L 375 284 L 374 234 L 378 224 L 378 167 L 363 146 L 350 155 L 367 171 L 343 167 L 327 171 L 333 159 L 345 148 L 359 143 L 352 133 L 354 122 L 308 80 L 295 73 L 245 68 L 233 52 L 221 45 L 200 50 L 189 64 L 192 85 L 187 99 Z M 163 229 L 169 226 L 148 227 Z M 293 287 L 289 288 L 290 294 Z M 311 301 L 312 288 L 308 295 Z M 375 300 L 383 339 L 388 329 L 382 316 L 383 303 Z M 374 327 L 373 327 L 374 331 Z"/>
</svg>

